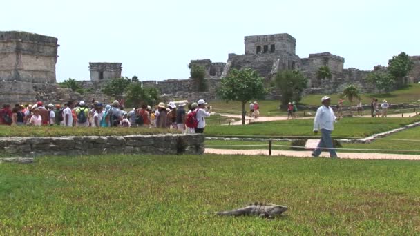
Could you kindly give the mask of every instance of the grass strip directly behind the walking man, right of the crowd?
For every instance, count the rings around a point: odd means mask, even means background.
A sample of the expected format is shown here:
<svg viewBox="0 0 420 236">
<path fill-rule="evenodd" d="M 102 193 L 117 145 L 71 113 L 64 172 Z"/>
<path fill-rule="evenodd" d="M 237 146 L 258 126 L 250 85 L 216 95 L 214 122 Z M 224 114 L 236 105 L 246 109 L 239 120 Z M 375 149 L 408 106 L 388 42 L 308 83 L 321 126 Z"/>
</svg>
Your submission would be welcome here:
<svg viewBox="0 0 420 236">
<path fill-rule="evenodd" d="M 420 117 L 412 118 L 344 118 L 334 126 L 336 137 L 367 137 L 369 135 L 392 130 L 400 126 L 420 121 Z M 206 135 L 225 135 L 243 137 L 294 137 L 316 136 L 312 132 L 313 119 L 296 119 L 289 121 L 270 121 L 247 126 L 209 126 Z M 319 136 L 319 135 L 318 135 Z"/>
</svg>

